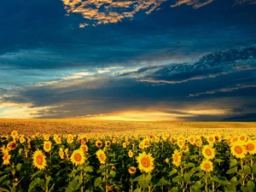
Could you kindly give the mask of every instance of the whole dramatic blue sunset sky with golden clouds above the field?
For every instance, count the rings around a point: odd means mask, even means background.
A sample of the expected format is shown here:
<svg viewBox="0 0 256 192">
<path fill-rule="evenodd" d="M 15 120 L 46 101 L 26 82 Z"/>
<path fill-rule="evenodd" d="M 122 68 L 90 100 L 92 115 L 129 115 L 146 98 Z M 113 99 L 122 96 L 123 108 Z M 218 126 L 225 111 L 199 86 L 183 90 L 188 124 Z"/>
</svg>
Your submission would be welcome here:
<svg viewBox="0 0 256 192">
<path fill-rule="evenodd" d="M 256 120 L 255 0 L 2 0 L 0 118 Z"/>
</svg>

